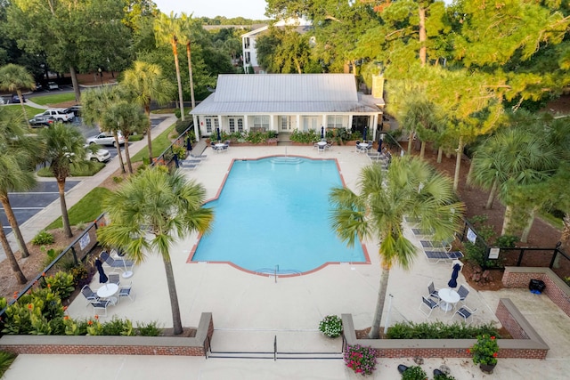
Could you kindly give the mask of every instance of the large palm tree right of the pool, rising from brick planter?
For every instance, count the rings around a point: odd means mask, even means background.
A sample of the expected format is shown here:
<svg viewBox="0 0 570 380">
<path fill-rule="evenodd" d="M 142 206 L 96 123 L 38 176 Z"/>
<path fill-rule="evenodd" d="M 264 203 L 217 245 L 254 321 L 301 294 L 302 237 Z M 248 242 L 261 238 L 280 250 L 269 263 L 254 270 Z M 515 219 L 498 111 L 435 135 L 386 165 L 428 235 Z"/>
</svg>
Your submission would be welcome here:
<svg viewBox="0 0 570 380">
<path fill-rule="evenodd" d="M 435 239 L 448 239 L 460 227 L 464 206 L 456 201 L 451 180 L 419 158 L 396 158 L 383 172 L 373 164 L 362 169 L 360 194 L 346 188 L 330 191 L 331 227 L 339 239 L 354 246 L 358 239 L 379 239 L 382 271 L 370 337 L 379 336 L 390 268 L 410 267 L 417 248 L 403 236 L 403 216 L 421 220 Z"/>
</svg>

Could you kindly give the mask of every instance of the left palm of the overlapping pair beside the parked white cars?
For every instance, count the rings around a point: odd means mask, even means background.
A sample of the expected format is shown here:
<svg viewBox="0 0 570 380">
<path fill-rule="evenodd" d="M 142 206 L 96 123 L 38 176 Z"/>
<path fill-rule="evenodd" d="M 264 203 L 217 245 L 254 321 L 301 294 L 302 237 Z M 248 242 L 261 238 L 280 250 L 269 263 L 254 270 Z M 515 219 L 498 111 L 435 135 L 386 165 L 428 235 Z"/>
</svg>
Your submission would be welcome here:
<svg viewBox="0 0 570 380">
<path fill-rule="evenodd" d="M 83 105 L 82 116 L 85 124 L 99 124 L 99 128 L 102 131 L 113 133 L 118 162 L 122 173 L 126 173 L 121 146 L 118 143 L 118 126 L 107 117 L 109 109 L 120 100 L 120 96 L 121 89 L 118 86 L 100 87 L 82 93 L 81 104 Z M 127 146 L 128 136 L 125 136 L 125 139 L 125 146 Z M 132 170 L 131 173 L 133 173 Z"/>
</svg>

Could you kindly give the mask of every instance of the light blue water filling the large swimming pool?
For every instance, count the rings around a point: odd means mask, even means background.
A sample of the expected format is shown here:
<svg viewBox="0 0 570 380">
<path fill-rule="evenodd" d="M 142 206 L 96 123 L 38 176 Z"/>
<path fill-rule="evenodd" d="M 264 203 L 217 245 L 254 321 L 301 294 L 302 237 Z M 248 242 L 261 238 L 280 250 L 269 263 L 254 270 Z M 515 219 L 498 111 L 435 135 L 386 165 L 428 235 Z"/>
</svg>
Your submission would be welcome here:
<svg viewBox="0 0 570 380">
<path fill-rule="evenodd" d="M 263 158 L 235 161 L 214 207 L 212 232 L 194 262 L 231 262 L 249 271 L 311 271 L 329 262 L 365 262 L 330 229 L 328 194 L 342 184 L 336 161 Z"/>
</svg>

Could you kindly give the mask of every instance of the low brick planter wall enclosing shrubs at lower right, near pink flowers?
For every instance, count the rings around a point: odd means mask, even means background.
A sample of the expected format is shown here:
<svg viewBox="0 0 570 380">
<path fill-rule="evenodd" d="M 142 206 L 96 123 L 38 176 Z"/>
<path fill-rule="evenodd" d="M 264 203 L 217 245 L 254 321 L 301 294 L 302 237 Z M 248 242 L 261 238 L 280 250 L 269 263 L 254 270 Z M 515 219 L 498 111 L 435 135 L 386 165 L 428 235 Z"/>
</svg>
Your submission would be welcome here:
<svg viewBox="0 0 570 380">
<path fill-rule="evenodd" d="M 515 328 L 514 333 L 517 336 L 527 336 L 519 339 L 499 339 L 499 358 L 546 358 L 549 346 L 508 298 L 501 298 L 499 301 L 497 317 L 508 330 L 509 327 Z M 342 314 L 342 324 L 346 344 L 375 348 L 379 352 L 379 358 L 471 358 L 467 350 L 476 343 L 476 339 L 356 339 L 351 314 Z M 521 333 L 521 329 L 524 333 Z M 514 336 L 510 330 L 509 334 Z"/>
</svg>

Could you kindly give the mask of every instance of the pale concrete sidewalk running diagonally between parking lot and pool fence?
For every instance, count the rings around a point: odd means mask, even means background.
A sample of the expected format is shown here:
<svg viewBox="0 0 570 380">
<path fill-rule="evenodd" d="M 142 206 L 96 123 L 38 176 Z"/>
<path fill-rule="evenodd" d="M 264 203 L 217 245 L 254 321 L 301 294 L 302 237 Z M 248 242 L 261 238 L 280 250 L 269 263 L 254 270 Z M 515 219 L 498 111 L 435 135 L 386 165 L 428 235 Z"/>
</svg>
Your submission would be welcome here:
<svg viewBox="0 0 570 380">
<path fill-rule="evenodd" d="M 30 101 L 28 102 L 31 105 L 31 102 Z M 43 106 L 34 105 L 34 107 L 43 107 Z M 159 115 L 157 117 L 165 117 L 165 116 L 167 116 L 166 120 L 164 120 L 156 127 L 152 128 L 153 137 L 158 136 L 160 133 L 164 132 L 170 125 L 173 125 L 176 122 L 176 117 L 174 115 Z M 151 115 L 151 118 L 152 117 L 154 116 Z M 146 149 L 146 139 L 142 139 L 141 141 L 135 141 L 129 147 L 129 153 L 131 154 L 131 156 L 133 156 L 139 150 L 143 149 Z M 103 181 L 109 178 L 111 174 L 115 173 L 118 167 L 119 163 L 118 163 L 118 158 L 116 157 L 111 159 L 110 162 L 107 164 L 107 166 L 105 166 L 102 169 L 102 171 L 91 177 L 69 177 L 68 178 L 69 180 L 79 180 L 81 182 L 78 183 L 77 186 L 75 186 L 73 189 L 69 190 L 65 194 L 65 201 L 67 203 L 68 210 L 69 208 L 71 208 L 71 206 L 74 206 L 81 198 L 85 197 L 85 195 L 89 191 L 99 186 Z M 55 179 L 42 178 L 39 179 L 38 181 L 55 182 Z M 38 231 L 43 230 L 45 226 L 53 222 L 59 216 L 61 216 L 61 208 L 60 208 L 60 199 L 58 198 L 54 200 L 52 204 L 46 206 L 42 211 L 40 211 L 39 213 L 28 219 L 27 222 L 20 224 L 20 230 L 22 236 L 24 237 L 24 240 L 26 242 L 29 242 L 31 239 L 34 238 L 34 236 L 36 236 Z M 10 242 L 10 246 L 12 247 L 12 250 L 14 252 L 17 251 L 18 244 L 16 242 L 14 234 L 10 232 L 7 235 L 7 237 L 8 241 Z M 0 247 L 0 262 L 3 261 L 5 258 L 6 255 L 4 254 L 4 249 Z"/>
</svg>

